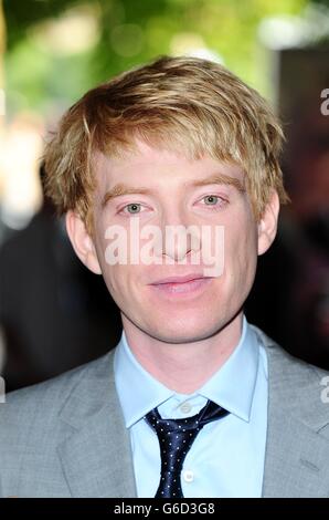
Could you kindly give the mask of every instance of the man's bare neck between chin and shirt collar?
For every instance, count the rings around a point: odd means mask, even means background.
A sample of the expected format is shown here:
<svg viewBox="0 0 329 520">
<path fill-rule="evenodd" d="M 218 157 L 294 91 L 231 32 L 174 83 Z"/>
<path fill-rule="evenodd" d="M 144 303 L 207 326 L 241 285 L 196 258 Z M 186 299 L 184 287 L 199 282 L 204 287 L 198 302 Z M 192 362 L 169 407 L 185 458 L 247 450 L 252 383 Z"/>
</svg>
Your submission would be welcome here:
<svg viewBox="0 0 329 520">
<path fill-rule="evenodd" d="M 211 337 L 180 344 L 148 335 L 126 316 L 123 324 L 128 345 L 140 365 L 168 388 L 192 394 L 221 368 L 237 346 L 242 319 L 240 313 Z"/>
</svg>

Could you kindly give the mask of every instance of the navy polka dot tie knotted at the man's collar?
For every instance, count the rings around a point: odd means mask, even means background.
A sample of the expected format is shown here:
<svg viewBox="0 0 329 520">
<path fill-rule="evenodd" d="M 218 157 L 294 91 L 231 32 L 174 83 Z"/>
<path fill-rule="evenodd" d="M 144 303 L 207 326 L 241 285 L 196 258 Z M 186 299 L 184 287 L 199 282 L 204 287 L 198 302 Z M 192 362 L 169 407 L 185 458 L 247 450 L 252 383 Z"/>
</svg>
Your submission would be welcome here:
<svg viewBox="0 0 329 520">
<path fill-rule="evenodd" d="M 227 414 L 208 401 L 199 414 L 185 419 L 162 419 L 158 408 L 145 416 L 158 435 L 161 453 L 161 477 L 155 498 L 183 498 L 180 476 L 189 449 L 204 425 Z"/>
</svg>

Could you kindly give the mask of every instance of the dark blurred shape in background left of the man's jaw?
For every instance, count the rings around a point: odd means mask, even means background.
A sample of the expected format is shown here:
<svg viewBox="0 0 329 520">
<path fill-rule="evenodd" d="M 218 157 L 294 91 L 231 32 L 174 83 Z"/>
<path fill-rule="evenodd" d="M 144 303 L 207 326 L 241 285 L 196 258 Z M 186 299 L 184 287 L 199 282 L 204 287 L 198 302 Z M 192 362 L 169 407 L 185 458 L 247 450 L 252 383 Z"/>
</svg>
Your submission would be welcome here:
<svg viewBox="0 0 329 520">
<path fill-rule="evenodd" d="M 43 186 L 43 165 L 40 179 Z M 7 391 L 88 362 L 118 341 L 116 305 L 73 254 L 46 195 L 28 227 L 0 248 L 0 325 Z"/>
</svg>

